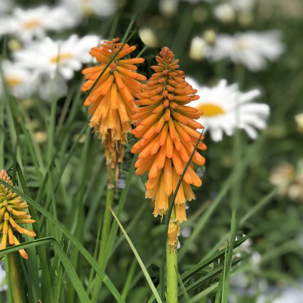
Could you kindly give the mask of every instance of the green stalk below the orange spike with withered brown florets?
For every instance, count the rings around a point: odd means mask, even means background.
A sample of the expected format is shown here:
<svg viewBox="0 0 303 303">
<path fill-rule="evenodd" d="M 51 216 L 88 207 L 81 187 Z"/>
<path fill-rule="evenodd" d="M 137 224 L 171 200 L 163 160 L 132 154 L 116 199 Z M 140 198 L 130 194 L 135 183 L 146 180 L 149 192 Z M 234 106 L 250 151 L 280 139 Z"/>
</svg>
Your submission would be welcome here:
<svg viewBox="0 0 303 303">
<path fill-rule="evenodd" d="M 115 182 L 114 182 L 115 169 L 110 169 L 109 178 L 111 179 L 111 180 L 109 180 L 109 183 L 115 184 Z M 110 229 L 111 229 L 111 220 L 112 220 L 111 208 L 113 206 L 113 201 L 114 201 L 114 188 L 113 188 L 113 186 L 110 186 L 107 189 L 107 194 L 106 194 L 106 207 L 105 207 L 105 212 L 104 212 L 104 217 L 103 217 L 101 243 L 100 243 L 100 250 L 99 250 L 99 256 L 98 256 L 98 265 L 100 265 L 100 267 L 102 269 L 104 269 L 104 266 L 106 264 L 105 248 L 107 245 L 107 240 L 108 240 L 108 237 L 110 234 Z M 102 285 L 102 279 L 99 276 L 96 276 L 95 281 L 94 281 L 92 298 L 91 298 L 92 303 L 98 302 L 101 285 Z"/>
</svg>

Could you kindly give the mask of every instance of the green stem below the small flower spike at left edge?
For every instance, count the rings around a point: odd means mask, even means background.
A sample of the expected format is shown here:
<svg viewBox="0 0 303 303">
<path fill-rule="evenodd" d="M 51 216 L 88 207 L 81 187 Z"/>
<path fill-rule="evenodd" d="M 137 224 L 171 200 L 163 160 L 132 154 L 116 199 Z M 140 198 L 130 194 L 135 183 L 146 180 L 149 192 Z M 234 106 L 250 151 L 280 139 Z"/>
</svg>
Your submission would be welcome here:
<svg viewBox="0 0 303 303">
<path fill-rule="evenodd" d="M 16 252 L 10 252 L 7 255 L 9 267 L 9 280 L 14 303 L 22 303 L 22 292 L 19 281 L 18 268 L 16 264 Z"/>
</svg>

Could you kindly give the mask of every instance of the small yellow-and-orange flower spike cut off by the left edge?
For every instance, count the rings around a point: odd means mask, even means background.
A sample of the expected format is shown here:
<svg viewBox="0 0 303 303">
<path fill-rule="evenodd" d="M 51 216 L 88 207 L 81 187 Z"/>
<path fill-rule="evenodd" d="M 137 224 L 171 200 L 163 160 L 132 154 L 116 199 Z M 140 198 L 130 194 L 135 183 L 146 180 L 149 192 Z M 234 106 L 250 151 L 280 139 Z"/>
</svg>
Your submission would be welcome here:
<svg viewBox="0 0 303 303">
<path fill-rule="evenodd" d="M 0 179 L 13 186 L 13 182 L 5 170 L 0 172 Z M 3 184 L 0 184 L 0 232 L 2 233 L 0 249 L 6 248 L 7 242 L 11 245 L 20 244 L 14 235 L 14 231 L 31 237 L 36 235 L 34 231 L 19 225 L 36 222 L 31 219 L 31 216 L 27 212 L 24 212 L 27 208 L 27 203 L 19 195 Z M 20 249 L 19 252 L 24 259 L 28 258 L 24 249 Z"/>
</svg>

